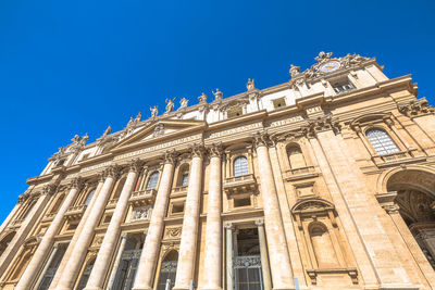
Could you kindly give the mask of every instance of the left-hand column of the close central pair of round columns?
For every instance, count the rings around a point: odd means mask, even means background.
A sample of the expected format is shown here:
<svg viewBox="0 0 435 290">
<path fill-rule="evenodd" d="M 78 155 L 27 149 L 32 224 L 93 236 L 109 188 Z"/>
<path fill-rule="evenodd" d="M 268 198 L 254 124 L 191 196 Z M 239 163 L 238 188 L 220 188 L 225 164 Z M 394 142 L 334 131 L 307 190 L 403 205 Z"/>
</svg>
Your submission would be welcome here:
<svg viewBox="0 0 435 290">
<path fill-rule="evenodd" d="M 189 186 L 187 188 L 174 289 L 189 289 L 190 280 L 194 279 L 199 205 L 202 191 L 203 147 L 201 144 L 194 144 L 191 148 L 191 155 Z"/>
</svg>

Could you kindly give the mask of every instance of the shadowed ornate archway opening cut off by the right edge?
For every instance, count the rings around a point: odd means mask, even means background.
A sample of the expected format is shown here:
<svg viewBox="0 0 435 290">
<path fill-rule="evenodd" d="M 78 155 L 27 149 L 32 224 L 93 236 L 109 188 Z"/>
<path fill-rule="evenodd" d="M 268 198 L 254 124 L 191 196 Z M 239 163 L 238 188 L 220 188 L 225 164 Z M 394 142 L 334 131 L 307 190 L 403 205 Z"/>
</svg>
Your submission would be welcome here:
<svg viewBox="0 0 435 290">
<path fill-rule="evenodd" d="M 391 175 L 386 186 L 397 192 L 399 213 L 435 268 L 435 174 L 403 169 Z"/>
</svg>

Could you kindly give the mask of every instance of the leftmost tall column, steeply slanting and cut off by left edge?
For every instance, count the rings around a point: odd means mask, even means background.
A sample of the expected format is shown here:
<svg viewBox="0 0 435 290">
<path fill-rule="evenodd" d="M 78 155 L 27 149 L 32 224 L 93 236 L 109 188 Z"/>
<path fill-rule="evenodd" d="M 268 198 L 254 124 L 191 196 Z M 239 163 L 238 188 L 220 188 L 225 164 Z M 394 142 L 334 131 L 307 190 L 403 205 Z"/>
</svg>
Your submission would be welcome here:
<svg viewBox="0 0 435 290">
<path fill-rule="evenodd" d="M 37 199 L 37 201 L 35 202 L 32 212 L 27 214 L 25 220 L 16 231 L 16 235 L 13 237 L 12 241 L 9 243 L 8 248 L 0 256 L 0 273 L 4 273 L 5 269 L 9 267 L 12 259 L 16 255 L 16 252 L 23 244 L 29 230 L 35 226 L 37 218 L 42 213 L 55 189 L 55 185 L 48 184 L 44 186 L 40 192 L 35 192 L 30 194 L 30 199 L 34 198 Z"/>
</svg>

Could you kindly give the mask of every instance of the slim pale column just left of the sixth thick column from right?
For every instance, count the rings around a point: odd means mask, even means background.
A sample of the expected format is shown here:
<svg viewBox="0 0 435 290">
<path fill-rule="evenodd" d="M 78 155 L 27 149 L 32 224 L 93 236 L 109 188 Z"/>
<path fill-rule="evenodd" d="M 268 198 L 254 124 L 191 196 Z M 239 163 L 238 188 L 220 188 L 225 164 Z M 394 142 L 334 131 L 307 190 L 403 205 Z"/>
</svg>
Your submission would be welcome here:
<svg viewBox="0 0 435 290">
<path fill-rule="evenodd" d="M 83 216 L 80 218 L 80 222 L 78 223 L 77 228 L 74 231 L 73 238 L 71 239 L 71 241 L 70 241 L 70 243 L 69 243 L 69 245 L 66 248 L 66 251 L 63 254 L 61 264 L 59 265 L 59 267 L 58 267 L 58 269 L 57 269 L 57 272 L 54 274 L 53 279 L 51 280 L 49 290 L 55 289 L 58 283 L 59 283 L 59 281 L 63 277 L 62 276 L 63 270 L 64 270 L 67 262 L 70 261 L 70 257 L 71 257 L 71 254 L 72 254 L 72 252 L 74 250 L 75 243 L 77 242 L 78 238 L 80 237 L 82 230 L 86 225 L 87 218 L 89 217 L 90 213 L 92 212 L 94 204 L 96 203 L 97 198 L 100 194 L 103 185 L 104 185 L 104 173 L 101 172 L 101 173 L 98 174 L 98 185 L 97 185 L 96 192 L 95 192 L 92 199 L 90 200 L 88 206 L 86 207 L 86 211 L 83 214 Z"/>
</svg>

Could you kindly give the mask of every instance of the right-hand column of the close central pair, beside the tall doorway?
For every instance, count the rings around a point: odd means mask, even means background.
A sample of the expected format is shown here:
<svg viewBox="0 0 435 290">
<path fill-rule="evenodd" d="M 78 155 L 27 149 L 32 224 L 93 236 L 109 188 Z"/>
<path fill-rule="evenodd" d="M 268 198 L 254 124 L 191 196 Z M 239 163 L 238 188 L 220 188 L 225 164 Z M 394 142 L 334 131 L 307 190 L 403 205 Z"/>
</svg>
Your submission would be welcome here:
<svg viewBox="0 0 435 290">
<path fill-rule="evenodd" d="M 210 148 L 210 177 L 209 198 L 207 203 L 207 226 L 206 226 L 206 256 L 204 272 L 206 283 L 201 289 L 222 289 L 222 228 L 221 228 L 221 203 L 222 203 L 222 149 L 213 144 Z M 203 281 L 202 281 L 203 282 Z"/>
</svg>

